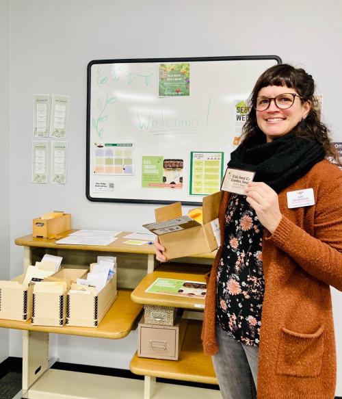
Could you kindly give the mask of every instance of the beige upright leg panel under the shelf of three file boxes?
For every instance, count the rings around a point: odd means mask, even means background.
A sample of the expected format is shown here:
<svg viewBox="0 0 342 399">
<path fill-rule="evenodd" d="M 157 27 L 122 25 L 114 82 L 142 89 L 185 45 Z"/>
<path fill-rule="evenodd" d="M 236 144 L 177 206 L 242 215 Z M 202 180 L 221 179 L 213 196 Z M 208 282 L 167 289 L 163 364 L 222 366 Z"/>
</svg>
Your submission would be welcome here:
<svg viewBox="0 0 342 399">
<path fill-rule="evenodd" d="M 23 331 L 23 391 L 49 368 L 49 333 Z"/>
</svg>

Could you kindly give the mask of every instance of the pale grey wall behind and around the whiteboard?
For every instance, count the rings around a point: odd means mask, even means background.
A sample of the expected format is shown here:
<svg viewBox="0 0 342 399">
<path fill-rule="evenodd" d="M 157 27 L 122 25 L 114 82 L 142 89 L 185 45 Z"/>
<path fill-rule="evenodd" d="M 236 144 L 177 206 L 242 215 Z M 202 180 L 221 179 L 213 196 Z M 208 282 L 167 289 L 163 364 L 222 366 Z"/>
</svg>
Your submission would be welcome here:
<svg viewBox="0 0 342 399">
<path fill-rule="evenodd" d="M 12 0 L 11 2 L 11 236 L 31 231 L 32 218 L 51 209 L 73 214 L 73 227 L 140 230 L 153 206 L 90 203 L 86 199 L 86 66 L 90 60 L 139 57 L 279 55 L 303 65 L 324 94 L 324 118 L 342 141 L 340 0 Z M 228 88 L 227 88 L 228 90 Z M 66 185 L 31 180 L 32 97 L 70 95 Z M 23 206 L 25 203 L 25 206 Z M 22 268 L 22 248 L 11 246 L 11 274 Z M 334 305 L 341 306 L 334 292 Z M 342 316 L 335 311 L 337 344 Z M 135 339 L 109 342 L 59 337 L 60 360 L 128 367 Z M 18 334 L 10 353 L 19 356 Z M 90 350 L 84 350 L 87 342 Z M 73 344 L 73 352 L 70 352 Z M 122 348 L 125 348 L 122 351 Z M 105 352 L 105 355 L 103 353 Z M 339 352 L 342 395 L 342 352 Z"/>
</svg>

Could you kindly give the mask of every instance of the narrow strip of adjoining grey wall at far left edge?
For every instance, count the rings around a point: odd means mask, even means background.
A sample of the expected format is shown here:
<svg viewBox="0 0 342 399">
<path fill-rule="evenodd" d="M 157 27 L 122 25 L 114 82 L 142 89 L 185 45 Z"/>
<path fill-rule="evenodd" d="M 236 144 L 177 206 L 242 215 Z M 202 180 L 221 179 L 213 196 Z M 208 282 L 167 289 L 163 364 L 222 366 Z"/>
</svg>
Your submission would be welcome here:
<svg viewBox="0 0 342 399">
<path fill-rule="evenodd" d="M 0 280 L 10 276 L 10 0 L 0 2 Z M 9 354 L 9 332 L 0 329 L 0 363 Z"/>
</svg>

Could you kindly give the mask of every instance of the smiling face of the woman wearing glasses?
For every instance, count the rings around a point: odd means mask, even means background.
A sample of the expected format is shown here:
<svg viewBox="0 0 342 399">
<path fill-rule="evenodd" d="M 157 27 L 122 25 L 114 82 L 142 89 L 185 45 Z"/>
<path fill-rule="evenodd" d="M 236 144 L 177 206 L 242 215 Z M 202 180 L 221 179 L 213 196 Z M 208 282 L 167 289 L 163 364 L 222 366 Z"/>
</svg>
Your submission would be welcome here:
<svg viewBox="0 0 342 399">
<path fill-rule="evenodd" d="M 259 91 L 258 97 L 274 98 L 283 93 L 298 94 L 293 88 L 287 86 L 267 86 Z M 306 118 L 310 108 L 311 103 L 309 101 L 302 103 L 298 96 L 295 97 L 293 105 L 287 110 L 281 110 L 272 100 L 267 110 L 257 111 L 257 123 L 261 131 L 265 133 L 267 142 L 272 142 L 274 138 L 285 136 L 302 118 Z"/>
</svg>

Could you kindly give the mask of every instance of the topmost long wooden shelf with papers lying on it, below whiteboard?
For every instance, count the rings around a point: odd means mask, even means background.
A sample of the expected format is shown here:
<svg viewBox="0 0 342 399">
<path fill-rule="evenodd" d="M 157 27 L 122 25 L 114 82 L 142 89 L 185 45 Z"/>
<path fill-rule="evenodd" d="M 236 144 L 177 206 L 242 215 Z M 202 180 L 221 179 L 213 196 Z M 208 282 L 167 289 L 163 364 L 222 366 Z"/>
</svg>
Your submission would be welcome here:
<svg viewBox="0 0 342 399">
<path fill-rule="evenodd" d="M 75 233 L 77 229 L 64 231 L 60 236 L 66 237 L 71 233 Z M 38 238 L 30 235 L 24 235 L 23 237 L 16 238 L 14 243 L 20 246 L 34 246 L 38 248 L 61 248 L 61 249 L 72 249 L 72 250 L 98 250 L 101 252 L 116 252 L 116 253 L 140 253 L 146 255 L 154 255 L 155 254 L 155 246 L 151 244 L 144 245 L 129 245 L 124 244 L 124 241 L 129 240 L 129 238 L 124 238 L 125 235 L 129 235 L 131 232 L 122 231 L 118 235 L 118 239 L 114 242 L 111 242 L 109 245 L 100 246 L 100 245 L 68 245 L 68 244 L 55 244 L 57 241 L 56 238 L 49 240 L 48 238 Z M 202 255 L 194 255 L 196 258 L 203 259 L 214 259 L 216 255 L 216 251 L 211 253 L 202 254 Z"/>
</svg>

